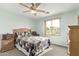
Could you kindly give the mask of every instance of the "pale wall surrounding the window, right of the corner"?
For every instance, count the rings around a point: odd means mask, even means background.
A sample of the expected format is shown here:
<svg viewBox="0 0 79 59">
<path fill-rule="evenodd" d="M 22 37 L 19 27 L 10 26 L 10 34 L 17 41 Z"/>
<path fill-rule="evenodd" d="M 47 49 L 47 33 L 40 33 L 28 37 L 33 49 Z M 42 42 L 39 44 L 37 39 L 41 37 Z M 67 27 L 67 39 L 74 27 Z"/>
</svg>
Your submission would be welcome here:
<svg viewBox="0 0 79 59">
<path fill-rule="evenodd" d="M 76 11 L 71 11 L 71 12 L 66 12 L 62 14 L 57 14 L 55 16 L 60 16 L 60 25 L 61 25 L 61 35 L 60 36 L 50 36 L 49 38 L 51 39 L 51 43 L 53 44 L 58 44 L 62 46 L 67 46 L 67 39 L 68 39 L 68 26 L 69 25 L 77 25 L 77 10 Z M 45 17 L 38 19 L 36 21 L 36 26 L 37 26 L 37 32 L 40 35 L 44 36 L 44 20 L 50 19 L 52 16 Z"/>
</svg>

